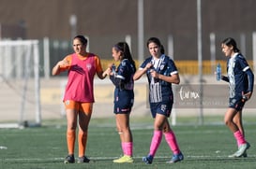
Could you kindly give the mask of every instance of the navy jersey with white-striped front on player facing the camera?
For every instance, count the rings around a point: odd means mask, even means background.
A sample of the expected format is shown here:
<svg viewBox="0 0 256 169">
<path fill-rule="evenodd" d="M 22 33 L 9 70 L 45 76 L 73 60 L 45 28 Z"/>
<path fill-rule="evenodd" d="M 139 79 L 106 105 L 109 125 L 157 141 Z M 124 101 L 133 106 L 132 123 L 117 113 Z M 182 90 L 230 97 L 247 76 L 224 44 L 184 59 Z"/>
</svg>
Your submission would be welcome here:
<svg viewBox="0 0 256 169">
<path fill-rule="evenodd" d="M 164 76 L 172 76 L 177 74 L 177 68 L 173 63 L 173 60 L 164 54 L 159 59 L 154 59 L 152 56 L 147 58 L 141 65 L 140 69 L 143 69 L 147 63 L 152 63 L 152 67 L 158 74 Z M 146 72 L 146 76 L 149 83 L 149 101 L 150 103 L 159 103 L 171 101 L 173 102 L 173 90 L 172 83 L 166 82 L 161 79 L 155 79 L 151 76 L 150 70 Z"/>
</svg>

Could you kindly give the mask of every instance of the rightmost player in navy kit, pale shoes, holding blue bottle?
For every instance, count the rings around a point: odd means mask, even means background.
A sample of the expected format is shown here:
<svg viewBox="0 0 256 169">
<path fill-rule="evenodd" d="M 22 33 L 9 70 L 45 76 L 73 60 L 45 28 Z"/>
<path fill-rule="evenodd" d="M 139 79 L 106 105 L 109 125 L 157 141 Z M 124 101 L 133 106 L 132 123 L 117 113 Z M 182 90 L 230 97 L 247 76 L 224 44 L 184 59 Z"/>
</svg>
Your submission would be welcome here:
<svg viewBox="0 0 256 169">
<path fill-rule="evenodd" d="M 242 109 L 253 92 L 254 75 L 233 38 L 224 39 L 221 42 L 221 49 L 225 56 L 229 57 L 227 62 L 228 76 L 221 76 L 221 79 L 229 82 L 230 86 L 229 108 L 224 121 L 233 132 L 238 146 L 238 150 L 229 157 L 247 157 L 249 144 L 245 139 Z"/>
</svg>

